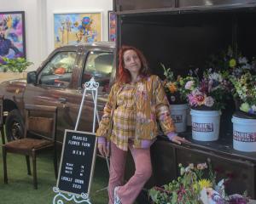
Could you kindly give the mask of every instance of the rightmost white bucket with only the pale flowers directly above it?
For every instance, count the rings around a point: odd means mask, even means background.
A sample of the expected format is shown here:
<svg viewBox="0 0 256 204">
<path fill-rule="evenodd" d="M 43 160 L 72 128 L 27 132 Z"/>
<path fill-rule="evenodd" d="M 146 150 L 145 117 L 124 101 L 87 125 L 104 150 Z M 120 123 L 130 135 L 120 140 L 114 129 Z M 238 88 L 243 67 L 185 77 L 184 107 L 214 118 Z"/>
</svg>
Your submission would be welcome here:
<svg viewBox="0 0 256 204">
<path fill-rule="evenodd" d="M 230 77 L 234 85 L 234 98 L 239 103 L 239 110 L 232 117 L 233 147 L 241 151 L 256 151 L 256 75 L 251 72 L 241 77 Z"/>
</svg>

